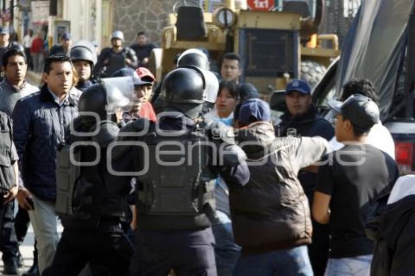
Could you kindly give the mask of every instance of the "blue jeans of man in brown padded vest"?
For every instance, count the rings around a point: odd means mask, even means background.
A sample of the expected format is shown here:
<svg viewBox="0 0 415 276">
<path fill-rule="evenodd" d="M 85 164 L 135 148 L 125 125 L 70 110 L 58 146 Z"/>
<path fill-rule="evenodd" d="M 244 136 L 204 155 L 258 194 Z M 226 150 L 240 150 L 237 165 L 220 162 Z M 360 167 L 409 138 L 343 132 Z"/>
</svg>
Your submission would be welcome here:
<svg viewBox="0 0 415 276">
<path fill-rule="evenodd" d="M 234 276 L 312 276 L 307 246 L 241 256 Z"/>
</svg>

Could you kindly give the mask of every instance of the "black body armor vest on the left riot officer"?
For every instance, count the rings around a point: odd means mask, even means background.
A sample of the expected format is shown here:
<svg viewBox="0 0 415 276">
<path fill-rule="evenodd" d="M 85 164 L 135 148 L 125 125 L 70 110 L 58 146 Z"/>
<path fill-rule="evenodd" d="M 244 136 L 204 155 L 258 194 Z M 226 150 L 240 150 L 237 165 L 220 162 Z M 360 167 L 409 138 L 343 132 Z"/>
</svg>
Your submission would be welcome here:
<svg viewBox="0 0 415 276">
<path fill-rule="evenodd" d="M 55 210 L 65 227 L 94 228 L 103 218 L 117 221 L 125 215 L 125 200 L 111 196 L 105 188 L 106 145 L 108 139 L 115 138 L 102 133 L 107 129 L 101 126 L 97 135 L 76 141 L 76 146 L 65 145 L 57 152 Z M 102 141 L 103 137 L 107 141 Z"/>
</svg>

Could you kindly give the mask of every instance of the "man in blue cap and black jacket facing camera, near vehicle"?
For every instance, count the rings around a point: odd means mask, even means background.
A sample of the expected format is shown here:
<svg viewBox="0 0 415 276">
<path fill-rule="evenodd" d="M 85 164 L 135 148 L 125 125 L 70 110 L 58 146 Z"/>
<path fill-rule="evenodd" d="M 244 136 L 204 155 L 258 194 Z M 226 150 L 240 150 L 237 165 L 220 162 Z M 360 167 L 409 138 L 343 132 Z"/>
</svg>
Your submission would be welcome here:
<svg viewBox="0 0 415 276">
<path fill-rule="evenodd" d="M 333 126 L 320 115 L 312 104 L 311 88 L 302 79 L 294 79 L 287 84 L 285 102 L 288 111 L 281 116 L 281 122 L 275 128 L 277 136 L 313 137 L 320 136 L 327 141 L 334 136 Z M 298 179 L 309 199 L 310 206 L 317 175 L 301 170 Z M 313 233 L 309 245 L 311 266 L 315 276 L 323 276 L 329 256 L 329 227 L 321 225 L 311 218 Z"/>
</svg>

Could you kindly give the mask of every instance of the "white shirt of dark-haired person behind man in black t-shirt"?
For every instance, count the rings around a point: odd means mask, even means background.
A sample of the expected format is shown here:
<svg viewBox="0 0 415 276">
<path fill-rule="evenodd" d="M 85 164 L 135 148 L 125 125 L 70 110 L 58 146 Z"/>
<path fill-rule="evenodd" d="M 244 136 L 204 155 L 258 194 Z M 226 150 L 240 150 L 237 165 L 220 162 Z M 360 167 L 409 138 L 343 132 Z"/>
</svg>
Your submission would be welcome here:
<svg viewBox="0 0 415 276">
<path fill-rule="evenodd" d="M 382 124 L 382 122 L 379 122 L 372 127 L 369 132 L 367 141 L 368 144 L 378 148 L 381 151 L 386 152 L 393 159 L 395 159 L 394 139 L 392 138 L 389 130 Z M 344 144 L 338 142 L 335 136 L 329 141 L 330 151 L 336 151 L 342 147 L 344 147 Z"/>
</svg>

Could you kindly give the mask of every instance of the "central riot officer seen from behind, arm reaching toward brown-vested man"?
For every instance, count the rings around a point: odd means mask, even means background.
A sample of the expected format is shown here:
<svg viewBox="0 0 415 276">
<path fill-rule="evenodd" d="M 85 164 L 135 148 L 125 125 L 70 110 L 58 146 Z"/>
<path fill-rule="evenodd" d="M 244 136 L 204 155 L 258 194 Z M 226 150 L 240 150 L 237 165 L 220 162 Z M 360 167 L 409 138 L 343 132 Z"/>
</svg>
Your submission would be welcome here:
<svg viewBox="0 0 415 276">
<path fill-rule="evenodd" d="M 130 275 L 167 275 L 173 269 L 178 275 L 213 276 L 214 179 L 220 173 L 227 183 L 244 185 L 248 167 L 232 138 L 222 144 L 223 128 L 203 121 L 203 103 L 214 101 L 218 89 L 211 72 L 177 68 L 162 86 L 166 113 L 157 123 L 140 118 L 127 124 L 108 151 L 111 194 L 128 195 L 131 176 L 137 177 Z"/>
</svg>

